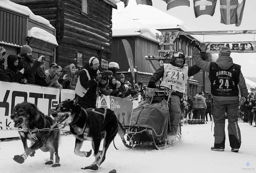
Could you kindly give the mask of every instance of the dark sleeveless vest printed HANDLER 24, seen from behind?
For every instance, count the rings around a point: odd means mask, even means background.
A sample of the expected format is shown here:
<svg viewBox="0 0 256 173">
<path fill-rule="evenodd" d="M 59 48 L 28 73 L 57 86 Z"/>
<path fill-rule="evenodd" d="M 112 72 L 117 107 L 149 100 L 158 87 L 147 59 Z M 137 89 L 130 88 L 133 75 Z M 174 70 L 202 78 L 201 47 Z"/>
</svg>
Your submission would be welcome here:
<svg viewBox="0 0 256 173">
<path fill-rule="evenodd" d="M 213 96 L 238 96 L 240 68 L 240 65 L 233 64 L 228 70 L 223 70 L 216 63 L 210 63 L 209 79 Z"/>
</svg>

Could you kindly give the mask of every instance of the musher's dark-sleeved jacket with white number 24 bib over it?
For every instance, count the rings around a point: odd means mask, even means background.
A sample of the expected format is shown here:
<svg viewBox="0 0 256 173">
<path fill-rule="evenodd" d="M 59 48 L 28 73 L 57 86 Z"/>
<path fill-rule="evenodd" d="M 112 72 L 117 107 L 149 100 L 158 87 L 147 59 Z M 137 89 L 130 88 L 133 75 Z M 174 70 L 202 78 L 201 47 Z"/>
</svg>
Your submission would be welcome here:
<svg viewBox="0 0 256 173">
<path fill-rule="evenodd" d="M 168 68 L 173 68 L 173 70 L 168 70 Z M 167 86 L 168 85 L 167 83 L 171 84 L 172 82 L 177 82 L 176 84 L 180 85 L 181 87 L 178 87 L 178 88 L 173 87 L 172 88 L 174 90 L 173 94 L 182 98 L 183 92 L 185 90 L 185 83 L 187 81 L 187 77 L 197 74 L 200 70 L 201 69 L 196 65 L 193 65 L 191 67 L 183 66 L 181 68 L 181 67 L 173 66 L 172 64 L 164 64 L 150 78 L 149 85 L 150 86 L 155 85 L 155 83 L 161 77 L 162 77 L 162 83 L 160 86 L 162 86 L 162 85 Z M 167 71 L 169 71 L 169 73 Z M 176 78 L 178 77 L 179 79 L 177 78 L 177 80 L 174 80 L 174 81 L 168 80 L 168 78 L 172 78 L 172 77 L 176 77 Z M 182 79 L 182 80 L 180 80 L 180 79 Z M 179 83 L 179 82 L 182 82 L 182 83 Z M 177 86 L 177 85 L 175 85 L 175 86 Z"/>
</svg>

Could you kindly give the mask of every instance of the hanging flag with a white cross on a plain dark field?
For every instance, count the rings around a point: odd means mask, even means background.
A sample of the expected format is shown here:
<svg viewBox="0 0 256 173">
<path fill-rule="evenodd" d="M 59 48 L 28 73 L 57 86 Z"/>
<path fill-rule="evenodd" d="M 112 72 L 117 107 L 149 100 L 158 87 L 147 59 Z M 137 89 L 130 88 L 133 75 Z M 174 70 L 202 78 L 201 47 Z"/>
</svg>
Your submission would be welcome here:
<svg viewBox="0 0 256 173">
<path fill-rule="evenodd" d="M 193 0 L 195 16 L 214 15 L 217 0 Z"/>
</svg>

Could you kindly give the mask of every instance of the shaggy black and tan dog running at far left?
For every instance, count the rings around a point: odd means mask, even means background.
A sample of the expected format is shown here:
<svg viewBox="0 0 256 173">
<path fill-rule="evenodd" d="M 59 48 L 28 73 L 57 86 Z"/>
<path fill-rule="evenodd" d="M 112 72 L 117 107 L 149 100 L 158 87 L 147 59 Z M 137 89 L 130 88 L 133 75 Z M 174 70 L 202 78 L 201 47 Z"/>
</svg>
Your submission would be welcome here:
<svg viewBox="0 0 256 173">
<path fill-rule="evenodd" d="M 15 155 L 14 161 L 23 163 L 28 155 L 34 156 L 35 150 L 40 148 L 44 152 L 50 152 L 50 159 L 45 164 L 52 164 L 52 167 L 60 166 L 58 155 L 60 131 L 30 131 L 30 129 L 50 129 L 54 124 L 52 118 L 40 112 L 34 104 L 23 102 L 14 107 L 11 119 L 15 123 L 14 127 L 23 129 L 23 131 L 19 131 L 19 134 L 25 150 L 22 155 Z M 58 128 L 58 126 L 56 125 L 54 128 Z M 30 147 L 27 146 L 27 139 L 31 141 Z M 55 154 L 54 164 L 53 154 Z"/>
</svg>

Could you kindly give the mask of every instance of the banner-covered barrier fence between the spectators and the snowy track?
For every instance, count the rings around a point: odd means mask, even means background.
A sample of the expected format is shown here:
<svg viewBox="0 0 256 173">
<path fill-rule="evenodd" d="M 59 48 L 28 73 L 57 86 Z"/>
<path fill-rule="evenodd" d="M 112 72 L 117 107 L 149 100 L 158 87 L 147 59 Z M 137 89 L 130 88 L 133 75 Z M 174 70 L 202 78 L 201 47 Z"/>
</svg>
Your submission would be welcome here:
<svg viewBox="0 0 256 173">
<path fill-rule="evenodd" d="M 59 101 L 74 97 L 74 90 L 0 81 L 0 139 L 19 136 L 17 131 L 6 130 L 8 127 L 14 127 L 10 116 L 16 104 L 23 101 L 34 103 L 41 112 L 50 115 L 49 109 L 57 107 Z M 128 114 L 137 106 L 138 101 L 113 96 L 98 97 L 96 105 L 97 108 L 113 110 L 123 125 L 127 125 Z"/>
</svg>

